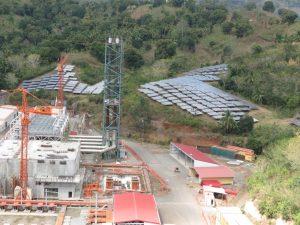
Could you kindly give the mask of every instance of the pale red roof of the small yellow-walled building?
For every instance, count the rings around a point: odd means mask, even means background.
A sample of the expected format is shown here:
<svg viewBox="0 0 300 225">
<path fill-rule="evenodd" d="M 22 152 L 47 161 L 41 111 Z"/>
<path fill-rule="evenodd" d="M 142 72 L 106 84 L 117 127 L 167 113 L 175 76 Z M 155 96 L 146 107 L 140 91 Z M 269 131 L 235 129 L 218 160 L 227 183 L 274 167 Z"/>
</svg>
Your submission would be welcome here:
<svg viewBox="0 0 300 225">
<path fill-rule="evenodd" d="M 195 167 L 200 178 L 228 178 L 234 177 L 234 172 L 226 166 Z"/>
</svg>

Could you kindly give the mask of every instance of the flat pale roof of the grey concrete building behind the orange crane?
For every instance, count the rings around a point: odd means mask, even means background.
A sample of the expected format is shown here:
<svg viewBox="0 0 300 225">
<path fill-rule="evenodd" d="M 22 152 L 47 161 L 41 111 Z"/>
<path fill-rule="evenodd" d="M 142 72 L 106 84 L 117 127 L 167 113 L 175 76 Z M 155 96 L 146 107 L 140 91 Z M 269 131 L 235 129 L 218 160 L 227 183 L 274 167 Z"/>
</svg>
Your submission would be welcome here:
<svg viewBox="0 0 300 225">
<path fill-rule="evenodd" d="M 19 140 L 3 140 L 0 142 L 0 159 L 20 157 Z M 79 154 L 80 143 L 31 140 L 28 142 L 29 160 L 75 160 Z"/>
</svg>

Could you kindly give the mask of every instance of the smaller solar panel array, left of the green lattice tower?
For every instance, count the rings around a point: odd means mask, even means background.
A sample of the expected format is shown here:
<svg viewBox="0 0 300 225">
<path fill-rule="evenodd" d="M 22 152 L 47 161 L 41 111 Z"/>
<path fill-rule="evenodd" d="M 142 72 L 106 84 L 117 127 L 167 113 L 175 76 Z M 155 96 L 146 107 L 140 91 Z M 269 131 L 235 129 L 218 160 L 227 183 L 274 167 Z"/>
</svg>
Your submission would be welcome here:
<svg viewBox="0 0 300 225">
<path fill-rule="evenodd" d="M 65 65 L 64 66 L 64 91 L 72 92 L 74 94 L 100 94 L 104 89 L 104 82 L 101 81 L 95 85 L 87 85 L 80 83 L 77 80 L 76 73 L 74 71 L 75 66 Z M 28 91 L 35 90 L 58 90 L 58 74 L 44 75 L 40 79 L 25 80 L 21 84 L 22 87 Z"/>
</svg>

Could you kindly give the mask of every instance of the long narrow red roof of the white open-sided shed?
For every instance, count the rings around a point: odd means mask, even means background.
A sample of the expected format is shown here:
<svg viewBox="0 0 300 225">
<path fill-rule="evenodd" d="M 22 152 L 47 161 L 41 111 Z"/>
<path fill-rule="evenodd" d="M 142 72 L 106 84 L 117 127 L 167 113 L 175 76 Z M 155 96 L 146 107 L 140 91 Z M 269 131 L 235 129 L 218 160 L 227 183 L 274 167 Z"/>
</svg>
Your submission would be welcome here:
<svg viewBox="0 0 300 225">
<path fill-rule="evenodd" d="M 189 156 L 193 160 L 217 164 L 215 160 L 206 156 L 204 153 L 200 152 L 197 148 L 193 146 L 174 143 L 174 142 L 172 142 L 171 144 L 176 146 L 178 149 L 180 149 L 182 152 L 184 152 L 187 156 Z"/>
</svg>

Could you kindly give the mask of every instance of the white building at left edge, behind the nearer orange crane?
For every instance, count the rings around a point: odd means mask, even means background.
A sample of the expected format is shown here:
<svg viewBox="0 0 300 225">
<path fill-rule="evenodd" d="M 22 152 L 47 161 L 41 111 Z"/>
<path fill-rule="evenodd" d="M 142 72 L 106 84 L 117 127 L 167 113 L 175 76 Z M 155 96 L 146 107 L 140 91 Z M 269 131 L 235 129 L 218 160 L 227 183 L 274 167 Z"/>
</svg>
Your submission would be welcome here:
<svg viewBox="0 0 300 225">
<path fill-rule="evenodd" d="M 15 106 L 3 105 L 0 108 L 0 133 L 9 128 L 10 123 L 18 116 Z"/>
</svg>

